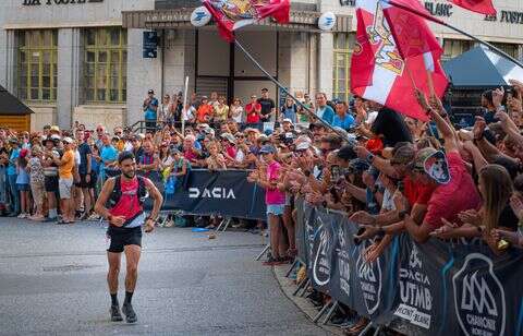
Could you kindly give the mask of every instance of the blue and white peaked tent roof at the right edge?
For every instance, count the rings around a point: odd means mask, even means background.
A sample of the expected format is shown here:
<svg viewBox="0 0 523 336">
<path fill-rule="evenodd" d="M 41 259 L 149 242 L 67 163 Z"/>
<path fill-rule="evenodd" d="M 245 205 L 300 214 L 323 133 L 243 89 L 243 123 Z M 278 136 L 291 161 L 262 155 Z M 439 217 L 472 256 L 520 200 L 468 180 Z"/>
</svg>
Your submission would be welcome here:
<svg viewBox="0 0 523 336">
<path fill-rule="evenodd" d="M 484 47 L 475 47 L 443 63 L 457 89 L 486 89 L 507 86 L 509 80 L 523 81 L 523 69 Z"/>
</svg>

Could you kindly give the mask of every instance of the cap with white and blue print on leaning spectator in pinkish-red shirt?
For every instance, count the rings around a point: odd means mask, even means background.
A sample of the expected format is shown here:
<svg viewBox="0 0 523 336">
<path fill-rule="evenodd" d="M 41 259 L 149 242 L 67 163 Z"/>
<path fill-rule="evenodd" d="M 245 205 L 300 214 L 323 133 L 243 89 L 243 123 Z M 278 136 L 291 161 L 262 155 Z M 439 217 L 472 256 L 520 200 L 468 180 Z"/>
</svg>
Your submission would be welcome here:
<svg viewBox="0 0 523 336">
<path fill-rule="evenodd" d="M 413 169 L 424 171 L 439 184 L 450 182 L 449 163 L 445 153 L 433 147 L 417 152 Z"/>
</svg>

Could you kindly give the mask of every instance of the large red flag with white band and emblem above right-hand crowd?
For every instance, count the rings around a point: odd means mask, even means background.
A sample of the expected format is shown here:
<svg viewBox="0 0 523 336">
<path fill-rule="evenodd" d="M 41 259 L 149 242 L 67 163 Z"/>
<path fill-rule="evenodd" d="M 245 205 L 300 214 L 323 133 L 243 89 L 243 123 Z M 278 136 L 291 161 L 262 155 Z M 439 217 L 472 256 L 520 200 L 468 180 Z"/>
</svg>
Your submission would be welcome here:
<svg viewBox="0 0 523 336">
<path fill-rule="evenodd" d="M 439 63 L 440 51 L 426 50 L 402 58 L 379 0 L 357 0 L 356 17 L 351 92 L 402 115 L 428 120 L 416 100 L 415 88 L 430 95 L 434 87 L 436 95 L 442 97 L 448 82 Z"/>
</svg>

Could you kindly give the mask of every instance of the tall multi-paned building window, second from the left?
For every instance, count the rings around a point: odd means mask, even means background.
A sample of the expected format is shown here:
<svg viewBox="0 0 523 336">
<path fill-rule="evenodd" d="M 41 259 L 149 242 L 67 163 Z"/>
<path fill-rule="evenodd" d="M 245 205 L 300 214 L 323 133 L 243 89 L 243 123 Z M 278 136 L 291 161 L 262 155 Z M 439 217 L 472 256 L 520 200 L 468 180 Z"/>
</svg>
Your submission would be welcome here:
<svg viewBox="0 0 523 336">
<path fill-rule="evenodd" d="M 84 47 L 84 100 L 90 104 L 125 103 L 127 32 L 121 27 L 85 29 Z"/>
</svg>

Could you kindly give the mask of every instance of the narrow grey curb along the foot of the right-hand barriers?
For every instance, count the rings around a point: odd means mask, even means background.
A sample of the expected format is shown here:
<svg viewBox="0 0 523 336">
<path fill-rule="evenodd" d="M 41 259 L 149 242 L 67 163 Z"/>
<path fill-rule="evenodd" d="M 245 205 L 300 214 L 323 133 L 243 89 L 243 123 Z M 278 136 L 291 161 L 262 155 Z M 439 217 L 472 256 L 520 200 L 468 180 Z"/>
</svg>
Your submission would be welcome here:
<svg viewBox="0 0 523 336">
<path fill-rule="evenodd" d="M 308 302 L 307 299 L 297 297 L 297 296 L 295 297 L 292 295 L 296 289 L 296 285 L 292 279 L 289 279 L 285 277 L 285 273 L 287 271 L 289 271 L 290 266 L 291 266 L 290 264 L 272 266 L 272 274 L 275 275 L 275 278 L 278 280 L 278 284 L 283 295 L 291 302 L 293 302 L 294 305 L 296 305 L 307 316 L 307 319 L 311 320 L 311 322 L 313 322 L 313 319 L 318 313 L 318 310 L 311 302 Z M 343 336 L 343 332 L 339 327 L 325 325 L 321 322 L 318 322 L 315 324 L 318 327 L 323 328 L 324 331 L 330 333 L 331 335 Z"/>
</svg>

